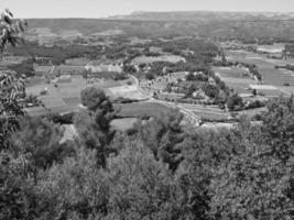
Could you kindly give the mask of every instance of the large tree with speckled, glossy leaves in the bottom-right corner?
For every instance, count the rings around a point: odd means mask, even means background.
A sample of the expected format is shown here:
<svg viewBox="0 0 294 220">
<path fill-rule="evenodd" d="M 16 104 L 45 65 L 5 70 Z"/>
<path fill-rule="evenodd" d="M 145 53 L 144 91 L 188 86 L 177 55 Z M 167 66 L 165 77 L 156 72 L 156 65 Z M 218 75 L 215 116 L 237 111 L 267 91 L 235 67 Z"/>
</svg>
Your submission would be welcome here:
<svg viewBox="0 0 294 220">
<path fill-rule="evenodd" d="M 244 141 L 242 151 L 216 167 L 210 184 L 213 219 L 294 218 L 293 167 L 264 154 L 269 146 Z"/>
</svg>

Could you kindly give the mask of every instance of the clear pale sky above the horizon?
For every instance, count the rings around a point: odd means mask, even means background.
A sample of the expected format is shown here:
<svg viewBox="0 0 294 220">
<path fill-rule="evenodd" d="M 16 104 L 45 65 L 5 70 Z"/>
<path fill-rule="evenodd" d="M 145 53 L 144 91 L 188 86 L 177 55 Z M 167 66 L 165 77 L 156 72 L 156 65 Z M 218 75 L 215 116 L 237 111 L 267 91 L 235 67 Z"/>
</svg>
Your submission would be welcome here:
<svg viewBox="0 0 294 220">
<path fill-rule="evenodd" d="M 0 0 L 15 18 L 106 18 L 133 11 L 294 12 L 294 0 Z"/>
</svg>

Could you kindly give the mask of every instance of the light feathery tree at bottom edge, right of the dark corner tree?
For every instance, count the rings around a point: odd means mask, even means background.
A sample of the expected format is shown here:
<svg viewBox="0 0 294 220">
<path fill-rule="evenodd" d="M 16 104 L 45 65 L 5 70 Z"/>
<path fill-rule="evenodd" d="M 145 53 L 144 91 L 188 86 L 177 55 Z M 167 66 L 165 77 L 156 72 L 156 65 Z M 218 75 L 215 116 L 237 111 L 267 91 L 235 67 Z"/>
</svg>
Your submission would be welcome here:
<svg viewBox="0 0 294 220">
<path fill-rule="evenodd" d="M 40 219 L 105 216 L 110 183 L 96 163 L 96 152 L 80 147 L 75 157 L 46 169 L 37 186 L 39 206 L 43 208 Z"/>
</svg>

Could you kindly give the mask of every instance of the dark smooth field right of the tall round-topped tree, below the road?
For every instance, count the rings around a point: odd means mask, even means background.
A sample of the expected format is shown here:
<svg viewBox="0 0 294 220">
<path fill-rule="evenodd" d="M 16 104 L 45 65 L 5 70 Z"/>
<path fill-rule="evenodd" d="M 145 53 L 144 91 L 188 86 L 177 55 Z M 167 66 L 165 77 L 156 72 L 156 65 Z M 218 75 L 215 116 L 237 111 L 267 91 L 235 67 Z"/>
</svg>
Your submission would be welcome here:
<svg viewBox="0 0 294 220">
<path fill-rule="evenodd" d="M 140 103 L 127 103 L 120 106 L 120 116 L 128 118 L 138 118 L 142 116 L 149 117 L 162 117 L 162 114 L 170 111 L 168 107 L 161 103 L 140 102 Z"/>
</svg>

